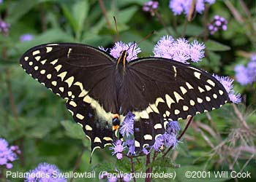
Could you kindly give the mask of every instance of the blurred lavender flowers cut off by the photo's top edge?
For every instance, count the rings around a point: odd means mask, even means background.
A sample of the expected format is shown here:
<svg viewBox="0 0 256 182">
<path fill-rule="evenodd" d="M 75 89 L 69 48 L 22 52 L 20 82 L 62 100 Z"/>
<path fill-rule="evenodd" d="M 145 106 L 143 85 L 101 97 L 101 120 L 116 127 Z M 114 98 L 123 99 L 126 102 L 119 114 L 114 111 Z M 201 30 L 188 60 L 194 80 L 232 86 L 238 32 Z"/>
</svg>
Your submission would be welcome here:
<svg viewBox="0 0 256 182">
<path fill-rule="evenodd" d="M 181 15 L 182 12 L 184 12 L 185 15 L 188 15 L 189 9 L 192 6 L 192 1 L 193 0 L 170 0 L 169 7 L 174 15 Z M 214 4 L 215 0 L 197 0 L 195 11 L 202 13 L 205 9 L 205 3 Z"/>
</svg>

